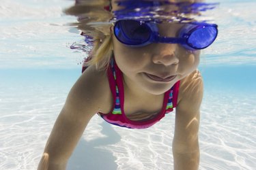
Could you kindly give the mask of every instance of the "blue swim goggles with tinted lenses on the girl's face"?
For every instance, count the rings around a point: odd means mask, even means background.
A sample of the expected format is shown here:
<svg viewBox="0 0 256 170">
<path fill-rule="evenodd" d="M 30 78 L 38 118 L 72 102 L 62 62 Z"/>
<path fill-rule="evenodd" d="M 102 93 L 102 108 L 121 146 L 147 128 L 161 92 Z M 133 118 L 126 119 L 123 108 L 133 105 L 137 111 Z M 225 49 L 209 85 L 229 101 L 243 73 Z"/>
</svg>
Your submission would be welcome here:
<svg viewBox="0 0 256 170">
<path fill-rule="evenodd" d="M 142 47 L 152 43 L 167 43 L 181 44 L 188 50 L 201 50 L 214 42 L 218 35 L 218 26 L 191 22 L 182 27 L 178 37 L 160 37 L 155 22 L 118 20 L 115 22 L 114 34 L 126 46 Z"/>
</svg>

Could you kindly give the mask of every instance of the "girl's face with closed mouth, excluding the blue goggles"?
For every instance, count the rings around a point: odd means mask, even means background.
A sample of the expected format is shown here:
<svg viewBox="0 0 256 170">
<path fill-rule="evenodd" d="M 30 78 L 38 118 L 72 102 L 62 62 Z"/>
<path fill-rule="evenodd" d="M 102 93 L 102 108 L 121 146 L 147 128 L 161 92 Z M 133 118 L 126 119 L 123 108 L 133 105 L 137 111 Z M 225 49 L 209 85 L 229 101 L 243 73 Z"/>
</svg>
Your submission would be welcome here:
<svg viewBox="0 0 256 170">
<path fill-rule="evenodd" d="M 175 37 L 183 24 L 158 24 L 161 36 Z M 169 90 L 175 82 L 197 69 L 199 50 L 186 50 L 180 44 L 149 44 L 134 48 L 113 36 L 115 61 L 129 86 L 138 86 L 154 95 Z"/>
</svg>

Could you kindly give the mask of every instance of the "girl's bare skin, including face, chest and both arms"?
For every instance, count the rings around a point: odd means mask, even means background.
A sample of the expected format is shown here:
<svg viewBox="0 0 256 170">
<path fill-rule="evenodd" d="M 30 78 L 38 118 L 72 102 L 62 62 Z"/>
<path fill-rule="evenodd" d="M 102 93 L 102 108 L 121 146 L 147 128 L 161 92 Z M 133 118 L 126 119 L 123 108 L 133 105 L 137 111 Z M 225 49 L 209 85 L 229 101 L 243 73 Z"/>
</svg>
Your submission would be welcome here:
<svg viewBox="0 0 256 170">
<path fill-rule="evenodd" d="M 181 27 L 179 24 L 160 24 L 158 29 L 162 36 L 175 37 Z M 113 52 L 124 75 L 124 112 L 130 120 L 142 120 L 158 113 L 164 93 L 180 80 L 173 137 L 174 169 L 198 169 L 199 108 L 203 97 L 203 81 L 197 71 L 199 50 L 189 51 L 179 44 L 130 48 L 114 37 Z M 156 82 L 145 73 L 162 78 L 175 75 L 175 78 L 169 82 Z M 90 66 L 70 90 L 38 169 L 66 169 L 89 120 L 97 112 L 109 113 L 112 105 L 106 71 Z"/>
</svg>

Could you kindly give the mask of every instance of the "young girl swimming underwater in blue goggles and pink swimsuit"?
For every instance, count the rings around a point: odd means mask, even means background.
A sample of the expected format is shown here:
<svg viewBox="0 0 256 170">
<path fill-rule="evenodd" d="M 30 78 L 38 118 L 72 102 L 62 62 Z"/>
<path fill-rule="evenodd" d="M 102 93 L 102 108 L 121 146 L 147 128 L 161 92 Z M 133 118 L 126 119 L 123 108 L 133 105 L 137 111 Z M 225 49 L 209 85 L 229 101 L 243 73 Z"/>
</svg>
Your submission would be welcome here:
<svg viewBox="0 0 256 170">
<path fill-rule="evenodd" d="M 203 80 L 197 66 L 200 50 L 216 35 L 216 24 L 204 22 L 117 20 L 70 90 L 38 169 L 66 169 L 95 114 L 117 126 L 145 129 L 173 108 L 174 169 L 198 169 Z"/>
</svg>

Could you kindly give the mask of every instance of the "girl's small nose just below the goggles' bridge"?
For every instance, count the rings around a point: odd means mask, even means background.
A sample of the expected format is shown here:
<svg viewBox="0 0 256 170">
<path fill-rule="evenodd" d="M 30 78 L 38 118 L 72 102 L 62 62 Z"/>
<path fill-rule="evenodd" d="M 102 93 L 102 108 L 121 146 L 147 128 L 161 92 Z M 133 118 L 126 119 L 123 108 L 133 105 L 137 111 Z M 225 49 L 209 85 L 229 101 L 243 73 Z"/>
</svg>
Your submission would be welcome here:
<svg viewBox="0 0 256 170">
<path fill-rule="evenodd" d="M 161 65 L 176 65 L 179 63 L 177 58 L 177 44 L 155 44 L 152 62 Z"/>
</svg>

